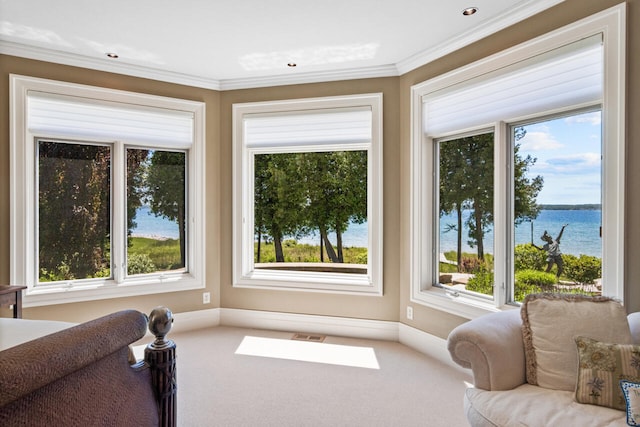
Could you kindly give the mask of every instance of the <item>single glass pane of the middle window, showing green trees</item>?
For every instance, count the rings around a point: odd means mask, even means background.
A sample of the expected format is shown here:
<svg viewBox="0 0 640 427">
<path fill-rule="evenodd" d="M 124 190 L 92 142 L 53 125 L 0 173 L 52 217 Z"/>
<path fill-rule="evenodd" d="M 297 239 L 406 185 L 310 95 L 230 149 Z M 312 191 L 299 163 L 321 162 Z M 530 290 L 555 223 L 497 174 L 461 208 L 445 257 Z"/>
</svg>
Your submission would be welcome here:
<svg viewBox="0 0 640 427">
<path fill-rule="evenodd" d="M 256 268 L 367 273 L 367 151 L 257 154 Z"/>
</svg>

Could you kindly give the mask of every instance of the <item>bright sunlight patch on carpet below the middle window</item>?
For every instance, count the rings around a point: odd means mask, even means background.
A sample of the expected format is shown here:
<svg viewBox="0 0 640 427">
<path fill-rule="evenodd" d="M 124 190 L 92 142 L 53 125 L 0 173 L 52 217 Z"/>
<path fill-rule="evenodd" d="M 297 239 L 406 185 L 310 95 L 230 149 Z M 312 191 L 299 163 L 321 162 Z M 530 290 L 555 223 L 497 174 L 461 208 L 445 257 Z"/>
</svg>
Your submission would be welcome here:
<svg viewBox="0 0 640 427">
<path fill-rule="evenodd" d="M 380 369 L 371 347 L 245 336 L 236 354 Z"/>
</svg>

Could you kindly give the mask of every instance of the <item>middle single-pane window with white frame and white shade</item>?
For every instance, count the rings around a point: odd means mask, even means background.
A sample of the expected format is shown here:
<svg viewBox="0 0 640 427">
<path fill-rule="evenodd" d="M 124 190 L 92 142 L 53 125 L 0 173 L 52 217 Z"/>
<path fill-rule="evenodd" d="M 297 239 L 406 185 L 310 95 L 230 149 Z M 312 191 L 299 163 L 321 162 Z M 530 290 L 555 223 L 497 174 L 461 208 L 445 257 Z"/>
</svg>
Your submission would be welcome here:
<svg viewBox="0 0 640 427">
<path fill-rule="evenodd" d="M 381 294 L 381 101 L 234 105 L 234 286 Z"/>
</svg>

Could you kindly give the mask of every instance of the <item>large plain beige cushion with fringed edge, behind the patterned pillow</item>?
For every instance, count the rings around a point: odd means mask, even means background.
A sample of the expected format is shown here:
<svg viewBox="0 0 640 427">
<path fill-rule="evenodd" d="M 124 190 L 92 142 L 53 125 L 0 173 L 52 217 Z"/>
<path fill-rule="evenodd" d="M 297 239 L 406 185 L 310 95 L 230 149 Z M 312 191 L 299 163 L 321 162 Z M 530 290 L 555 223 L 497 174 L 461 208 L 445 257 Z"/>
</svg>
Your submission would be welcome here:
<svg viewBox="0 0 640 427">
<path fill-rule="evenodd" d="M 520 313 L 529 384 L 575 391 L 577 336 L 632 344 L 624 307 L 611 298 L 532 294 L 525 298 Z"/>
</svg>

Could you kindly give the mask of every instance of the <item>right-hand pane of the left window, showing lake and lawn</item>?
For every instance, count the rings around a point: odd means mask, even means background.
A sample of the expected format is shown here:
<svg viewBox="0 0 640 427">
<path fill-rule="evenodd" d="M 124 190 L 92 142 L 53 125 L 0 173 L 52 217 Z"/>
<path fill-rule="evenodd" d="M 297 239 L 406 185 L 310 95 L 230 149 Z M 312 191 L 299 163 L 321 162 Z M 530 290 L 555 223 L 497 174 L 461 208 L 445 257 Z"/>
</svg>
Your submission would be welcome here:
<svg viewBox="0 0 640 427">
<path fill-rule="evenodd" d="M 127 149 L 127 274 L 186 265 L 186 154 Z"/>
</svg>

